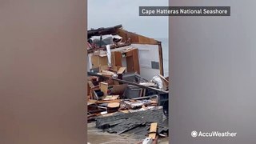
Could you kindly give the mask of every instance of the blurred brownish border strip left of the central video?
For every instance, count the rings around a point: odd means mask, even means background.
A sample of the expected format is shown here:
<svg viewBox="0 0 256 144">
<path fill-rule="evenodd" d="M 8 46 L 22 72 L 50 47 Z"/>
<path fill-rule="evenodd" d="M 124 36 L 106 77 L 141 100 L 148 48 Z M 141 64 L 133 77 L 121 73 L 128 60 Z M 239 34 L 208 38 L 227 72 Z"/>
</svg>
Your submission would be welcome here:
<svg viewBox="0 0 256 144">
<path fill-rule="evenodd" d="M 86 1 L 0 1 L 0 143 L 86 143 Z"/>
</svg>

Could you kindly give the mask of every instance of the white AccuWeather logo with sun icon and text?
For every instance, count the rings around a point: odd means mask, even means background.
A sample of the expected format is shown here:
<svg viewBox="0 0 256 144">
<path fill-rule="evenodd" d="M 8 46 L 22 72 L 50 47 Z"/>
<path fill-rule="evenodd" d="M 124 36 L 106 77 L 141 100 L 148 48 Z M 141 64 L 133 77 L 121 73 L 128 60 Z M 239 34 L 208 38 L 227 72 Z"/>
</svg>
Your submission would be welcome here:
<svg viewBox="0 0 256 144">
<path fill-rule="evenodd" d="M 236 137 L 237 133 L 231 133 L 229 131 L 219 132 L 219 131 L 211 131 L 211 132 L 202 132 L 195 131 L 191 132 L 191 137 Z"/>
</svg>

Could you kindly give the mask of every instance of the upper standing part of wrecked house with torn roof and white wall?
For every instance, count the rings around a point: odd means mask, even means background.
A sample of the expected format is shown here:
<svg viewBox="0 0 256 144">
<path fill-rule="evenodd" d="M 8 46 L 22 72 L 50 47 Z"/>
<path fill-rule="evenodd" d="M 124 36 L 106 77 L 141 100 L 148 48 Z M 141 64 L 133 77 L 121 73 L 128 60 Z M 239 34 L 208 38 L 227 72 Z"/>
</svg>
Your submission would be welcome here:
<svg viewBox="0 0 256 144">
<path fill-rule="evenodd" d="M 134 34 L 122 29 L 122 26 L 88 30 L 89 69 L 107 65 L 106 46 L 111 49 L 112 66 L 124 66 L 126 72 L 137 72 L 142 78 L 150 79 L 163 75 L 162 44 L 153 38 Z M 102 50 L 95 56 L 95 48 Z M 97 54 L 96 54 L 97 55 Z"/>
</svg>

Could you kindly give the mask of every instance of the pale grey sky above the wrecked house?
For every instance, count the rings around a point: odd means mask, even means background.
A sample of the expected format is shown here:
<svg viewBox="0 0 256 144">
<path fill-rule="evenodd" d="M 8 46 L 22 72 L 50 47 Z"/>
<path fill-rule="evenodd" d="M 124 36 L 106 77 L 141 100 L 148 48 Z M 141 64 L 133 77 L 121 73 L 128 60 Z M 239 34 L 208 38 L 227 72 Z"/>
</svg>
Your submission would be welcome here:
<svg viewBox="0 0 256 144">
<path fill-rule="evenodd" d="M 168 17 L 139 17 L 138 6 L 168 6 L 168 0 L 88 0 L 88 30 L 116 26 L 150 38 L 168 38 Z"/>
</svg>

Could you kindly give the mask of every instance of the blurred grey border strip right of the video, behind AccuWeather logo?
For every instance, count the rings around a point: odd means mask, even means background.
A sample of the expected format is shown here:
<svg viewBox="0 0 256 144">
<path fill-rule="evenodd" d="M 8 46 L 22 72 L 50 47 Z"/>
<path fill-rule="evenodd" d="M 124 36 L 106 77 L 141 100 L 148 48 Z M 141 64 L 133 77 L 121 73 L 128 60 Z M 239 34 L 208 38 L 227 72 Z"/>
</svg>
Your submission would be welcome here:
<svg viewBox="0 0 256 144">
<path fill-rule="evenodd" d="M 231 16 L 170 17 L 170 143 L 254 144 L 254 1 L 184 1 L 171 6 L 230 6 Z M 192 130 L 237 132 L 192 138 Z"/>
</svg>

